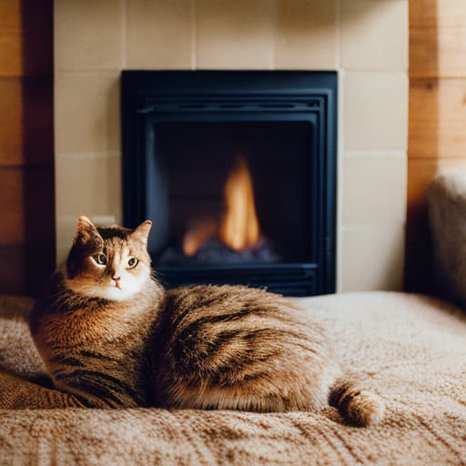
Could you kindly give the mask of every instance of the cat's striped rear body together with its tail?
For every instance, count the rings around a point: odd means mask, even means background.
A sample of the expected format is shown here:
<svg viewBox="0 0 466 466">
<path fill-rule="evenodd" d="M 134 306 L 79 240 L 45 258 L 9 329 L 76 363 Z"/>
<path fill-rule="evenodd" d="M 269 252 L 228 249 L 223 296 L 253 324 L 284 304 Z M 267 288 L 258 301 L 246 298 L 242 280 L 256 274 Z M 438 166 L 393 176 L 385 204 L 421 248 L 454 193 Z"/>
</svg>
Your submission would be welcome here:
<svg viewBox="0 0 466 466">
<path fill-rule="evenodd" d="M 376 395 L 338 379 L 325 330 L 287 299 L 246 287 L 181 288 L 167 292 L 164 314 L 154 351 L 162 406 L 315 411 L 330 401 L 351 424 L 382 417 Z"/>
</svg>

